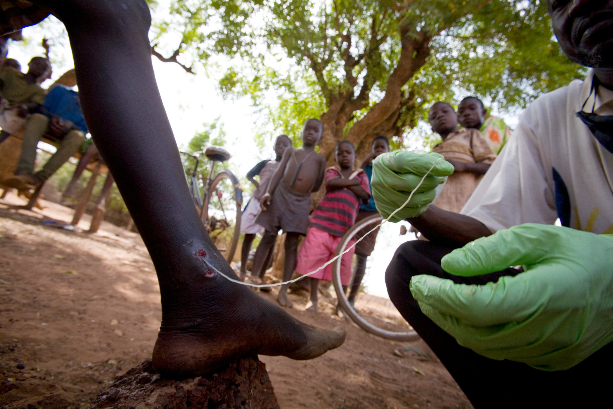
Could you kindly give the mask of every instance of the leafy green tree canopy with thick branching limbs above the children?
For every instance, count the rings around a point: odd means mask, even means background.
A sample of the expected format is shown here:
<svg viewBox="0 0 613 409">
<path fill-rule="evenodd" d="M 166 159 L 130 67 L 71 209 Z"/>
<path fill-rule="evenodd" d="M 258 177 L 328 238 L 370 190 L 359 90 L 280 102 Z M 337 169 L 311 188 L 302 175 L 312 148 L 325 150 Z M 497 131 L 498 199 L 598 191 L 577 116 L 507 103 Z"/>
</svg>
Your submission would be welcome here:
<svg viewBox="0 0 613 409">
<path fill-rule="evenodd" d="M 541 1 L 193 2 L 207 23 L 215 16 L 200 46 L 234 62 L 224 94 L 250 96 L 294 137 L 319 116 L 330 161 L 340 139 L 359 156 L 376 134 L 398 143 L 434 101 L 470 93 L 517 109 L 585 74 L 560 51 Z"/>
</svg>

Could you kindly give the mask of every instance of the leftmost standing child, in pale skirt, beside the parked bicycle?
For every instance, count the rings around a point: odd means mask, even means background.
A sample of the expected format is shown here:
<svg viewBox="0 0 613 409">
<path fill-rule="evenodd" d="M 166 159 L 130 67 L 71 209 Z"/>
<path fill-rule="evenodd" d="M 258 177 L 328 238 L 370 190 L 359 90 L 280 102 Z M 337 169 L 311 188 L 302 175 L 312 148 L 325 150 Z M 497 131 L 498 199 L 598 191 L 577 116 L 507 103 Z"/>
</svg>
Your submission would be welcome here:
<svg viewBox="0 0 613 409">
<path fill-rule="evenodd" d="M 277 167 L 283 158 L 283 152 L 292 146 L 292 140 L 287 135 L 281 135 L 276 137 L 275 140 L 275 155 L 274 161 L 261 161 L 253 169 L 247 172 L 247 178 L 254 186 L 256 190 L 253 192 L 253 196 L 249 200 L 249 203 L 245 207 L 245 211 L 240 219 L 240 232 L 245 233 L 245 239 L 243 239 L 243 247 L 240 251 L 240 278 L 245 280 L 247 275 L 247 258 L 249 257 L 249 251 L 251 251 L 251 243 L 256 238 L 256 234 L 264 234 L 264 227 L 256 223 L 256 217 L 261 212 L 260 200 L 268 189 L 268 183 L 270 178 L 275 173 Z M 260 176 L 260 182 L 254 179 L 256 175 Z M 267 262 L 264 266 L 268 266 L 272 251 L 269 252 Z"/>
</svg>

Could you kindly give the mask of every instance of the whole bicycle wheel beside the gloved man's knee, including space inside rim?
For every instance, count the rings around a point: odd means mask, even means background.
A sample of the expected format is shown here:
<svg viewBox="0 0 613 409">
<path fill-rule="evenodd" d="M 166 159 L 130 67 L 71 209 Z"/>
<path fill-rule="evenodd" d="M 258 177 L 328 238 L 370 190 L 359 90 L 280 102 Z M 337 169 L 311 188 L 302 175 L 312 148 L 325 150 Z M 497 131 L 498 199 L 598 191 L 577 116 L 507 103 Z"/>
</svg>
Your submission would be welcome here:
<svg viewBox="0 0 613 409">
<path fill-rule="evenodd" d="M 381 221 L 383 221 L 383 218 L 380 215 L 373 215 L 357 221 L 341 239 L 335 256 L 343 253 L 343 251 L 351 245 L 350 243 L 352 243 L 353 240 L 362 237 L 364 232 L 370 231 L 370 229 L 377 226 Z M 365 231 L 362 229 L 365 229 Z M 373 254 L 374 253 L 376 253 L 376 250 L 373 251 Z M 387 264 L 381 261 L 371 261 L 371 265 L 377 266 L 379 272 L 382 272 L 381 269 L 387 267 Z M 355 270 L 353 273 L 355 275 Z M 354 277 L 352 276 L 351 281 L 353 280 Z M 375 301 L 374 308 L 371 306 L 372 302 L 369 304 L 365 302 L 360 303 L 360 298 L 356 299 L 356 305 L 359 306 L 362 304 L 362 308 L 352 307 L 352 305 L 349 304 L 347 294 L 341 285 L 341 258 L 336 259 L 332 264 L 332 282 L 334 283 L 334 289 L 337 293 L 338 305 L 354 323 L 365 331 L 370 332 L 370 334 L 378 335 L 379 337 L 396 341 L 413 341 L 419 339 L 417 332 L 410 330 L 408 323 L 406 323 L 405 319 L 398 313 L 398 310 L 395 309 L 390 300 L 365 294 L 362 298 L 366 299 L 369 297 Z M 349 288 L 351 288 L 351 283 L 348 286 L 348 289 Z"/>
</svg>

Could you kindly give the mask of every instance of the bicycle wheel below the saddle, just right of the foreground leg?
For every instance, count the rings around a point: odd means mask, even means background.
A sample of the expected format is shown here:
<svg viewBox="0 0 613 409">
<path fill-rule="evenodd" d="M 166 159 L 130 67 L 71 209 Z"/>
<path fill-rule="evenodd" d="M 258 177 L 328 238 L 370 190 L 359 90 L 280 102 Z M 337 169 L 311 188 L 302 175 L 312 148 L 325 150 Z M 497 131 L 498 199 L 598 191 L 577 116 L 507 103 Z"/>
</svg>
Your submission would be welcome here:
<svg viewBox="0 0 613 409">
<path fill-rule="evenodd" d="M 232 261 L 240 235 L 243 190 L 230 170 L 219 172 L 205 194 L 200 218 L 227 262 Z"/>
</svg>

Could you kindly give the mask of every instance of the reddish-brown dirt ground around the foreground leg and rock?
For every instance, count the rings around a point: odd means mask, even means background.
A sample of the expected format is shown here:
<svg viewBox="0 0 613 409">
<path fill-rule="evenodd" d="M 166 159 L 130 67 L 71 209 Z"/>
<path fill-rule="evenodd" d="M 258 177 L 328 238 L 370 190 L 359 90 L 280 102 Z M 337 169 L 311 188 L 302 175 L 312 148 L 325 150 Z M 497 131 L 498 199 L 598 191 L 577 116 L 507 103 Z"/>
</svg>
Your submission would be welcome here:
<svg viewBox="0 0 613 409">
<path fill-rule="evenodd" d="M 23 203 L 0 201 L 0 408 L 85 408 L 151 354 L 161 319 L 153 264 L 138 234 L 106 222 L 88 234 L 87 215 L 66 231 L 43 222 L 69 222 L 69 208 L 14 207 Z M 296 318 L 348 336 L 312 361 L 260 357 L 281 408 L 471 408 L 436 357 L 394 354 L 432 354 L 423 342 L 383 340 L 291 300 Z"/>
</svg>

